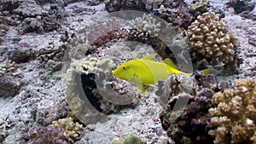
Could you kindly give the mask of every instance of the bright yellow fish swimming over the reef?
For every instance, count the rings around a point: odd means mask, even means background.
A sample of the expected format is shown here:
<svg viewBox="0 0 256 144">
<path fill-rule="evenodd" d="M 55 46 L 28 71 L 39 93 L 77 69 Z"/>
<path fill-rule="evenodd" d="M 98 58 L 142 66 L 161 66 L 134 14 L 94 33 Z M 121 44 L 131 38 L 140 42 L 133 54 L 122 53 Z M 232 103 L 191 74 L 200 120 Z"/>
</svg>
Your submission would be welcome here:
<svg viewBox="0 0 256 144">
<path fill-rule="evenodd" d="M 172 73 L 191 75 L 191 73 L 179 71 L 172 60 L 164 60 L 164 62 L 154 61 L 155 55 L 157 54 L 146 55 L 141 59 L 126 61 L 113 70 L 113 76 L 135 83 L 144 93 L 144 86 L 156 84 L 160 80 L 164 81 Z M 210 69 L 204 70 L 203 72 L 209 73 Z"/>
</svg>

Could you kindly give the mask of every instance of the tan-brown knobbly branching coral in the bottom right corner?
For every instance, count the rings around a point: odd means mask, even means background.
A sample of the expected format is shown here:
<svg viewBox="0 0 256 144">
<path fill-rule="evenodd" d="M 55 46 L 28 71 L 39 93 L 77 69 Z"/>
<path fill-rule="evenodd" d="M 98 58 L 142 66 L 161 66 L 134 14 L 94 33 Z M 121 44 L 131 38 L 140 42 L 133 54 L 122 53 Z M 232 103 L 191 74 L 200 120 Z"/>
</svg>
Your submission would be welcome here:
<svg viewBox="0 0 256 144">
<path fill-rule="evenodd" d="M 211 124 L 217 127 L 209 134 L 215 144 L 253 144 L 256 142 L 256 81 L 240 79 L 233 89 L 225 89 L 212 97 L 217 107 L 209 109 Z"/>
</svg>

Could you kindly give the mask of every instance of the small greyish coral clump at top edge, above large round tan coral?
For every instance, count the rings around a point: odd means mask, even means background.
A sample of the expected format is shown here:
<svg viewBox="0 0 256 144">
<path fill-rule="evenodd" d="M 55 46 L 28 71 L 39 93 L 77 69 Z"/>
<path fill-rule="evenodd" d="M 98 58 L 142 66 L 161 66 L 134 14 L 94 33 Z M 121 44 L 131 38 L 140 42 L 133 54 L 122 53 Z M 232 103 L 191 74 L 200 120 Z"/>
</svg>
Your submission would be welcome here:
<svg viewBox="0 0 256 144">
<path fill-rule="evenodd" d="M 208 0 L 194 0 L 189 5 L 189 12 L 193 14 L 195 18 L 198 15 L 206 13 L 210 8 L 210 3 Z"/>
</svg>

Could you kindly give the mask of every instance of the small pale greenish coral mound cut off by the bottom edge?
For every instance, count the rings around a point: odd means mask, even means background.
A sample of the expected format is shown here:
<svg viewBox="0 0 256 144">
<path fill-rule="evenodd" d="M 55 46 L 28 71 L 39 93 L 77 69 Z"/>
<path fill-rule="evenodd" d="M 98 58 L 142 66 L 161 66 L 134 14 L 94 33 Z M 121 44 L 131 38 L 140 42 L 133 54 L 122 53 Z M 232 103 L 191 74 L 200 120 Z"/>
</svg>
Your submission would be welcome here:
<svg viewBox="0 0 256 144">
<path fill-rule="evenodd" d="M 112 144 L 146 144 L 146 142 L 142 141 L 140 137 L 137 135 L 126 135 L 125 139 L 120 140 L 119 138 L 114 138 L 111 141 Z"/>
</svg>

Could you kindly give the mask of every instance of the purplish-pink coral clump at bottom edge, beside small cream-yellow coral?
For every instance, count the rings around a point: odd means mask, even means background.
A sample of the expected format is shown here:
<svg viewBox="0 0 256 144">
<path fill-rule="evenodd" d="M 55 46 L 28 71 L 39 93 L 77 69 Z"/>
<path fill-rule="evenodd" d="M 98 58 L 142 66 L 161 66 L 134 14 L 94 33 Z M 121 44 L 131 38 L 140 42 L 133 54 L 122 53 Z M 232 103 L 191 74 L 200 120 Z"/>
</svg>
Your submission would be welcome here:
<svg viewBox="0 0 256 144">
<path fill-rule="evenodd" d="M 23 135 L 26 141 L 21 144 L 67 144 L 67 134 L 61 128 L 37 127 L 36 130 L 30 130 Z"/>
</svg>

